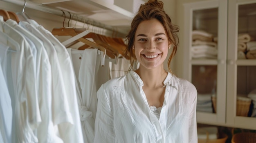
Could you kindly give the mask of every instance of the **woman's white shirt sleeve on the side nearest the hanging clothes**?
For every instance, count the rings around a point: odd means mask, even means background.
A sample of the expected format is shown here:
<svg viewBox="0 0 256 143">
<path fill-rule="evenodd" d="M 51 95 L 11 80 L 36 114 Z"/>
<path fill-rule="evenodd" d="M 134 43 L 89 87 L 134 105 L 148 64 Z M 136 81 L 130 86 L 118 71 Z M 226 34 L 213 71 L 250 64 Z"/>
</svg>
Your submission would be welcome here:
<svg viewBox="0 0 256 143">
<path fill-rule="evenodd" d="M 110 99 L 103 86 L 99 88 L 97 98 L 94 143 L 115 143 L 115 130 Z"/>
</svg>

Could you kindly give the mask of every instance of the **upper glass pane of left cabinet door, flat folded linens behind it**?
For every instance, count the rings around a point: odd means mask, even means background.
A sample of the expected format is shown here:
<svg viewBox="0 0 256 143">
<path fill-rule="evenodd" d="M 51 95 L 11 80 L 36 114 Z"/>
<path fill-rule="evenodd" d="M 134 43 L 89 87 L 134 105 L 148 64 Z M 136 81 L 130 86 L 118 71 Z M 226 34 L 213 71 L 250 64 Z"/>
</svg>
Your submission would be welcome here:
<svg viewBox="0 0 256 143">
<path fill-rule="evenodd" d="M 218 8 L 193 11 L 192 59 L 217 59 Z"/>
</svg>

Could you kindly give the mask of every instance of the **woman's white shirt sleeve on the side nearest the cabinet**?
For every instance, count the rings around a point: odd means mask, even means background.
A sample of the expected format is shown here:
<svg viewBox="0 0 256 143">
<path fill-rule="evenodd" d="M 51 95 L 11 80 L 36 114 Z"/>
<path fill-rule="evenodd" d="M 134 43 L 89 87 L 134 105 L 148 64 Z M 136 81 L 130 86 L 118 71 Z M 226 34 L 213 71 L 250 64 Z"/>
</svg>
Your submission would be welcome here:
<svg viewBox="0 0 256 143">
<path fill-rule="evenodd" d="M 196 101 L 197 90 L 195 86 L 191 88 L 191 110 L 189 113 L 189 143 L 198 142 L 197 123 L 196 123 Z"/>
</svg>

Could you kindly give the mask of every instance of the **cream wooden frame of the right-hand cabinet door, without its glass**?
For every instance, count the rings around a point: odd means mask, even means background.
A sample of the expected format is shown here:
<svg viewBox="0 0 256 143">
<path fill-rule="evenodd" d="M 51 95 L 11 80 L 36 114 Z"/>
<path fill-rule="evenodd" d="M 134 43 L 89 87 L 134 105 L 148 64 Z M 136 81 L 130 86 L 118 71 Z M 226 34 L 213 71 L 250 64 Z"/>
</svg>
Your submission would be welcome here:
<svg viewBox="0 0 256 143">
<path fill-rule="evenodd" d="M 256 60 L 237 60 L 238 6 L 256 3 L 256 0 L 229 0 L 228 3 L 228 51 L 227 51 L 227 125 L 235 128 L 256 129 L 253 117 L 236 116 L 237 67 L 256 66 Z"/>
</svg>

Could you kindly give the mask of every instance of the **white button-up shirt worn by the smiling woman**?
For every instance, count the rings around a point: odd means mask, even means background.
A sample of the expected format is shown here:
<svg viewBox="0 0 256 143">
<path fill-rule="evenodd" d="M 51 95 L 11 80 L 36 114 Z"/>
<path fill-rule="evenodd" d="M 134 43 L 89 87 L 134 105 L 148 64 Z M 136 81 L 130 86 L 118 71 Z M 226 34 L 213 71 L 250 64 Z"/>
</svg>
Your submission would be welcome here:
<svg viewBox="0 0 256 143">
<path fill-rule="evenodd" d="M 168 73 L 159 120 L 134 71 L 97 92 L 94 143 L 197 143 L 195 86 Z"/>
</svg>

